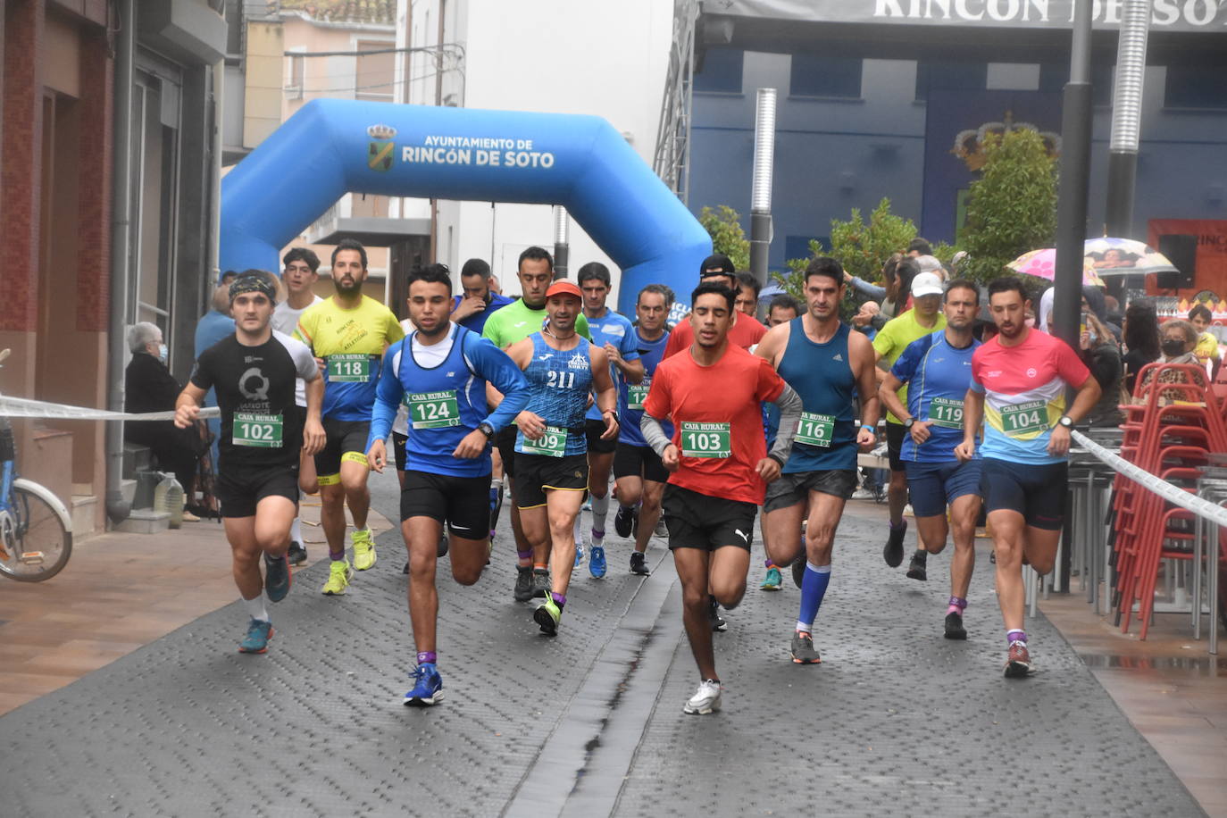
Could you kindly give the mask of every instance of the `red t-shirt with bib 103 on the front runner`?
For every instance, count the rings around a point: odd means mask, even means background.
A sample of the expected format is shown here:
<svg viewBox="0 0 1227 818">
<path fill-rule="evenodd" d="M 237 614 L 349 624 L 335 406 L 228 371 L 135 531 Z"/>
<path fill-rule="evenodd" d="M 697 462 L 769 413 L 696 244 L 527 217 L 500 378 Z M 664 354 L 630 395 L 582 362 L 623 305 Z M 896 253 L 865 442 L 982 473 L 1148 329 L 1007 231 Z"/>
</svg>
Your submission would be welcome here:
<svg viewBox="0 0 1227 818">
<path fill-rule="evenodd" d="M 690 352 L 661 361 L 643 402 L 652 417 L 672 417 L 679 451 L 715 454 L 728 441 L 728 456 L 681 455 L 669 482 L 699 494 L 762 505 L 767 483 L 755 468 L 767 456 L 763 401 L 784 391 L 784 379 L 772 365 L 739 346 L 729 345 L 710 367 Z M 690 424 L 702 426 L 690 426 Z M 683 439 L 690 433 L 692 437 Z M 726 435 L 726 438 L 725 438 Z"/>
</svg>

